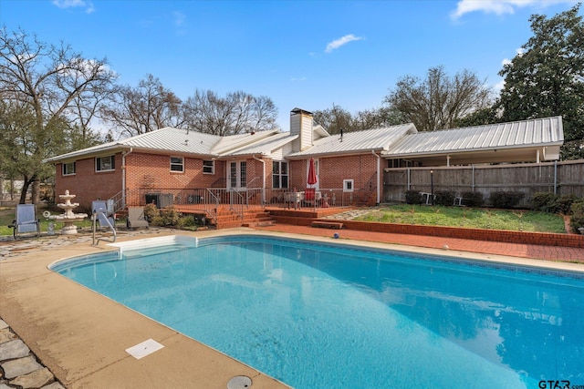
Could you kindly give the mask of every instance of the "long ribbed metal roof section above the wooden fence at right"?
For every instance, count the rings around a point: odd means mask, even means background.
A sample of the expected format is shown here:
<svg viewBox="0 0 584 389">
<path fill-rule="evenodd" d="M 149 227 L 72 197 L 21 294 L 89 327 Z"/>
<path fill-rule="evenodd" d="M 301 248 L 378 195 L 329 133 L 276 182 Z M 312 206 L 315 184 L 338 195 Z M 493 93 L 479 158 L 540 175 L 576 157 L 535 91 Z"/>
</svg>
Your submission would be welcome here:
<svg viewBox="0 0 584 389">
<path fill-rule="evenodd" d="M 561 145 L 562 118 L 536 118 L 486 126 L 418 132 L 401 139 L 383 154 L 392 157 Z"/>
</svg>

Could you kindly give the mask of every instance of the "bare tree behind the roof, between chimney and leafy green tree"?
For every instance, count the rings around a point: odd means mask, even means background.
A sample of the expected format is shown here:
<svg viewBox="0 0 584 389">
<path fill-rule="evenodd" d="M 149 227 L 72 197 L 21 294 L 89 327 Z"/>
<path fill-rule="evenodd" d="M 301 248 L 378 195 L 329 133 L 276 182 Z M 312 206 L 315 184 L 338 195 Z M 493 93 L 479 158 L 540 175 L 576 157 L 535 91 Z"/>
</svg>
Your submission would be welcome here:
<svg viewBox="0 0 584 389">
<path fill-rule="evenodd" d="M 418 130 L 454 128 L 456 120 L 490 107 L 492 91 L 464 69 L 449 77 L 443 67 L 431 67 L 425 79 L 401 77 L 385 102 L 401 112 Z"/>
</svg>

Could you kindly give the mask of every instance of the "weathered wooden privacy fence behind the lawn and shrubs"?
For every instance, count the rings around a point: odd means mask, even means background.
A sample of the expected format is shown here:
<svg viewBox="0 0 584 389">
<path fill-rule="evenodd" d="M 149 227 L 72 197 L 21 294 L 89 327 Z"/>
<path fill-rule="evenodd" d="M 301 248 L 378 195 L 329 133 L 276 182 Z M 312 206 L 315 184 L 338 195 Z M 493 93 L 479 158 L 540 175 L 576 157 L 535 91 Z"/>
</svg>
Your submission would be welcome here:
<svg viewBox="0 0 584 389">
<path fill-rule="evenodd" d="M 388 168 L 383 172 L 383 200 L 404 201 L 406 190 L 436 192 L 452 190 L 483 193 L 521 191 L 519 205 L 529 205 L 534 193 L 573 193 L 584 197 L 584 159 L 510 165 L 476 165 L 433 168 Z"/>
</svg>

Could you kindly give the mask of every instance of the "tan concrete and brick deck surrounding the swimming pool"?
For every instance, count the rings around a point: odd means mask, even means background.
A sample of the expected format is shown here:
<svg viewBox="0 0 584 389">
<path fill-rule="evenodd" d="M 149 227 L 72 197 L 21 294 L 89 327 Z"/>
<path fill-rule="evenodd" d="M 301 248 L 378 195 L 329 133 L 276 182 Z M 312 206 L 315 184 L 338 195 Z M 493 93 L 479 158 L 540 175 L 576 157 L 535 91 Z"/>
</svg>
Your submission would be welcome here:
<svg viewBox="0 0 584 389">
<path fill-rule="evenodd" d="M 339 233 L 339 239 L 334 241 L 340 244 L 364 244 L 392 250 L 584 271 L 582 263 L 553 261 L 584 261 L 584 249 L 401 237 L 397 234 L 289 225 L 255 230 L 156 230 L 134 236 L 120 236 L 119 241 L 166 235 L 204 237 L 241 233 L 333 241 L 335 232 Z M 32 244 L 34 241 L 22 241 L 22 245 L 28 245 L 25 249 L 16 250 L 17 255 L 6 255 L 4 260 L 0 260 L 0 318 L 36 354 L 40 363 L 55 374 L 63 386 L 225 388 L 232 377 L 246 375 L 253 380 L 253 388 L 287 387 L 266 374 L 47 269 L 54 261 L 115 249 L 105 242 L 92 246 L 90 241 L 71 245 L 59 245 L 55 241 L 47 250 L 42 244 Z M 15 242 L 4 242 L 4 246 L 5 243 Z M 442 250 L 444 245 L 448 246 L 448 251 Z M 3 251 L 1 244 L 0 251 Z M 126 353 L 127 348 L 149 339 L 162 343 L 164 348 L 139 360 Z M 2 379 L 0 376 L 0 387 Z"/>
</svg>

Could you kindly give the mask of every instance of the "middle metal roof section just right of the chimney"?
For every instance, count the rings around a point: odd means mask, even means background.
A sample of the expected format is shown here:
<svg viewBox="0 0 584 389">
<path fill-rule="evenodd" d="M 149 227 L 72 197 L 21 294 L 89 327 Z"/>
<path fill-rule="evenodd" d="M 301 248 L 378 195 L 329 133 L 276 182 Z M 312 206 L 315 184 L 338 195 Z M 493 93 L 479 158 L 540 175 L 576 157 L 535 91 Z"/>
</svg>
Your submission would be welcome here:
<svg viewBox="0 0 584 389">
<path fill-rule="evenodd" d="M 298 151 L 287 158 L 305 158 L 309 156 L 322 156 L 334 154 L 348 154 L 370 150 L 387 150 L 394 142 L 397 142 L 406 134 L 413 134 L 417 130 L 412 123 L 398 126 L 374 128 L 364 131 L 354 131 L 343 134 L 331 135 L 319 138 L 313 142 L 313 146 L 306 150 Z"/>
</svg>

